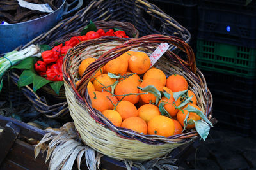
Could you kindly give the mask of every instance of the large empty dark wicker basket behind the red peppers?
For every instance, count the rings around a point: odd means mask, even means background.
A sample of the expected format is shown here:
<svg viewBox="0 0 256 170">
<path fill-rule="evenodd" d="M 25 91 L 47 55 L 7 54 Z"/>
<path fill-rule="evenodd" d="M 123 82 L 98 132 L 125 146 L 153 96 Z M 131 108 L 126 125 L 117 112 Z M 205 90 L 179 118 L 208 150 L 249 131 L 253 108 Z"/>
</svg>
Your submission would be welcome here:
<svg viewBox="0 0 256 170">
<path fill-rule="evenodd" d="M 97 20 L 130 22 L 140 32 L 140 36 L 148 34 L 172 35 L 182 38 L 186 43 L 191 38 L 187 29 L 148 1 L 93 0 L 73 17 L 62 20 L 50 31 L 41 34 L 28 44 L 20 46 L 17 50 L 26 48 L 33 43 L 54 45 L 56 39 L 64 37 L 70 32 L 77 32 L 77 29 L 88 25 L 90 20 L 93 22 Z"/>
</svg>

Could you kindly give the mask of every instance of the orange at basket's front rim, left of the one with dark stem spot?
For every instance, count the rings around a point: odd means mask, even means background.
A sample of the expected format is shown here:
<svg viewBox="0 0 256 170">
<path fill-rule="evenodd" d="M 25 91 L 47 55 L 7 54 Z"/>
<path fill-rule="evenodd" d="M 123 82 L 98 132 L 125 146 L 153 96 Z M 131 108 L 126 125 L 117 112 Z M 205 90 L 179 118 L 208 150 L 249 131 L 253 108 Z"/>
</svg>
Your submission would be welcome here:
<svg viewBox="0 0 256 170">
<path fill-rule="evenodd" d="M 132 131 L 136 131 L 142 134 L 147 134 L 148 127 L 146 122 L 140 117 L 129 117 L 125 119 L 121 127 L 125 127 L 127 129 L 131 129 Z"/>
</svg>

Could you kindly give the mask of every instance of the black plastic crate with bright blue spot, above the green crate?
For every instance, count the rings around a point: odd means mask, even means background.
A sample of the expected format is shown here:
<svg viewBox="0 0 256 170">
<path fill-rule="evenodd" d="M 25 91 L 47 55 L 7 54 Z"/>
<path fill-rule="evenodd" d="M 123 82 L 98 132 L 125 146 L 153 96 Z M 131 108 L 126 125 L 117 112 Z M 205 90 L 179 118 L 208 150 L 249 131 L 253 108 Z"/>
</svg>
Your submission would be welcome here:
<svg viewBox="0 0 256 170">
<path fill-rule="evenodd" d="M 255 48 L 255 10 L 239 12 L 236 8 L 228 10 L 228 5 L 212 6 L 209 4 L 198 6 L 198 12 L 198 39 Z"/>
</svg>

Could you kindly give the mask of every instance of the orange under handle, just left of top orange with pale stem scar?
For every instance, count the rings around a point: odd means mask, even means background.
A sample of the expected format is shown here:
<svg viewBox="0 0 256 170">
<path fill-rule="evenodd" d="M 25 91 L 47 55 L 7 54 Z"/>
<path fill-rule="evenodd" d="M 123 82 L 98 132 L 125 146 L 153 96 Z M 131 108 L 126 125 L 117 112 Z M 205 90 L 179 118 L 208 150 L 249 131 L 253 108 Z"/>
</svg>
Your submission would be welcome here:
<svg viewBox="0 0 256 170">
<path fill-rule="evenodd" d="M 112 74 L 120 74 L 124 75 L 127 71 L 128 68 L 128 60 L 127 58 L 123 55 L 120 55 L 116 59 L 110 60 L 107 62 L 105 65 L 104 69 L 106 69 L 107 73 L 112 73 Z"/>
</svg>

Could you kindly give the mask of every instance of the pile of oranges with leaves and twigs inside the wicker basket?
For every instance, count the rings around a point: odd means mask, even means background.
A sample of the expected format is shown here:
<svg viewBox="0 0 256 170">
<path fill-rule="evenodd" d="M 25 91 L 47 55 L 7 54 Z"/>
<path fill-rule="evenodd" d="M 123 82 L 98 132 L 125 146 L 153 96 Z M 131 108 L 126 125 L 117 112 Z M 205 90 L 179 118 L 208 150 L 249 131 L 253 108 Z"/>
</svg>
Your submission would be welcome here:
<svg viewBox="0 0 256 170">
<path fill-rule="evenodd" d="M 86 67 L 94 61 L 93 58 L 83 60 L 79 75 L 83 76 Z M 157 89 L 161 96 L 145 91 L 145 87 Z M 141 134 L 164 137 L 180 134 L 189 113 L 188 104 L 200 110 L 184 76 L 166 76 L 161 69 L 150 68 L 150 58 L 144 52 L 128 51 L 109 61 L 93 76 L 87 88 L 93 108 L 101 111 L 113 125 Z M 187 98 L 193 97 L 186 106 L 177 108 L 186 98 L 181 96 L 175 101 L 173 93 L 184 90 Z M 190 112 L 188 121 L 191 119 L 201 118 Z M 195 124 L 188 124 L 186 129 L 194 127 Z"/>
</svg>

